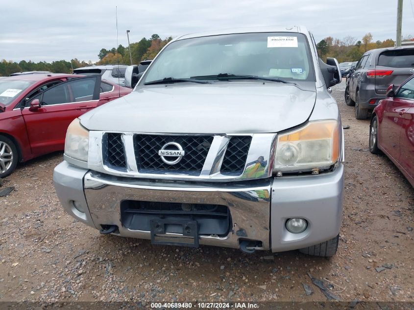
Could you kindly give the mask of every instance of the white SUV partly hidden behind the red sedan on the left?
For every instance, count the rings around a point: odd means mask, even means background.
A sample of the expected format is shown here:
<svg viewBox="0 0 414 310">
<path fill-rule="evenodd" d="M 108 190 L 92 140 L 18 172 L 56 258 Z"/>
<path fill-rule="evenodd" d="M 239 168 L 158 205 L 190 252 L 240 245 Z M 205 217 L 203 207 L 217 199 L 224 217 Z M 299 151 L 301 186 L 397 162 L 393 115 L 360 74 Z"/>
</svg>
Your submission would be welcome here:
<svg viewBox="0 0 414 310">
<path fill-rule="evenodd" d="M 73 70 L 73 74 L 94 75 L 100 74 L 102 79 L 111 83 L 125 86 L 125 70 L 126 65 L 100 65 L 77 68 Z"/>
</svg>

